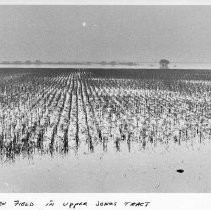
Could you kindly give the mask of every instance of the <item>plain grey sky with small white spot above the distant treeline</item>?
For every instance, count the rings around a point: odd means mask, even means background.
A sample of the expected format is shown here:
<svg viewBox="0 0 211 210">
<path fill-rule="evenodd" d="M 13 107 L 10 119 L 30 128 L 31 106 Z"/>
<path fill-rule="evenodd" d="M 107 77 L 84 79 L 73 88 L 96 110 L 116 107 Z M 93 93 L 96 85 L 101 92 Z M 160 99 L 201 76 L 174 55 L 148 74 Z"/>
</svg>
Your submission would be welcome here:
<svg viewBox="0 0 211 210">
<path fill-rule="evenodd" d="M 0 60 L 211 62 L 211 6 L 0 6 Z"/>
</svg>

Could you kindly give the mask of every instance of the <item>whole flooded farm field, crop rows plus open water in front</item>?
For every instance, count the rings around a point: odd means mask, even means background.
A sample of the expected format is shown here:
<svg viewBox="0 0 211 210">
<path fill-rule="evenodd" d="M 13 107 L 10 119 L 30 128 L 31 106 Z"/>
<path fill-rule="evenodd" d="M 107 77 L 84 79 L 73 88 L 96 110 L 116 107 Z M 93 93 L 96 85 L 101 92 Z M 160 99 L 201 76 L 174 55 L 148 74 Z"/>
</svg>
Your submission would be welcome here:
<svg viewBox="0 0 211 210">
<path fill-rule="evenodd" d="M 206 70 L 1 69 L 0 192 L 210 192 L 210 91 Z"/>
</svg>

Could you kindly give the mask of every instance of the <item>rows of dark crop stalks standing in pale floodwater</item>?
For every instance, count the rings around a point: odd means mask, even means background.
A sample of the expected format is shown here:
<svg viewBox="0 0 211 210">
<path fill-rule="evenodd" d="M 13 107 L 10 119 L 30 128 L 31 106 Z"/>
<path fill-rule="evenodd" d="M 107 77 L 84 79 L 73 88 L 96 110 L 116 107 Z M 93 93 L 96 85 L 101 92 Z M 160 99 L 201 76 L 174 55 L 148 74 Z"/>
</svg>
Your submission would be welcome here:
<svg viewBox="0 0 211 210">
<path fill-rule="evenodd" d="M 210 140 L 208 79 L 117 78 L 105 72 L 1 72 L 1 158 Z"/>
</svg>

